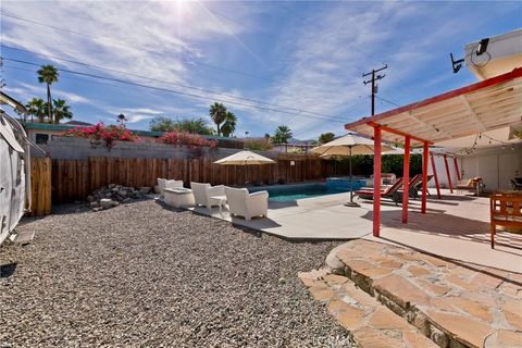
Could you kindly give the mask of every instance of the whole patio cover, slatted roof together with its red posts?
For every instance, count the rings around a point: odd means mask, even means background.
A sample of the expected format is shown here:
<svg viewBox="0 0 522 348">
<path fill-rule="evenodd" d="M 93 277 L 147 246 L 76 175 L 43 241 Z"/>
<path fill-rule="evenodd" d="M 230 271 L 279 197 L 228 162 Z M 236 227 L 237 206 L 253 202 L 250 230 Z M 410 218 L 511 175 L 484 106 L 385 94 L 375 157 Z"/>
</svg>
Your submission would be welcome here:
<svg viewBox="0 0 522 348">
<path fill-rule="evenodd" d="M 426 213 L 428 146 L 453 139 L 519 127 L 522 123 L 522 67 L 423 101 L 363 117 L 345 125 L 346 129 L 373 135 L 373 235 L 381 229 L 381 144 L 405 144 L 402 222 L 408 222 L 409 153 L 411 146 L 422 146 L 421 213 Z M 433 158 L 432 158 L 433 160 Z M 445 157 L 448 172 L 447 158 Z M 451 187 L 451 184 L 449 184 Z"/>
</svg>

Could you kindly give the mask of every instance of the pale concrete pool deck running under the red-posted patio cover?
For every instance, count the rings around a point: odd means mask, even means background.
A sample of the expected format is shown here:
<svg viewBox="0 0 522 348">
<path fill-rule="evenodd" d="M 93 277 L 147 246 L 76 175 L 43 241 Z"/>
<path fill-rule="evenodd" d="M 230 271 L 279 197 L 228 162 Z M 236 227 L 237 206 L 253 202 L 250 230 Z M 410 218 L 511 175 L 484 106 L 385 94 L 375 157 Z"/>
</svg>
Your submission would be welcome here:
<svg viewBox="0 0 522 348">
<path fill-rule="evenodd" d="M 356 200 L 359 208 L 348 208 L 349 192 L 269 202 L 268 219 L 231 217 L 226 209 L 210 213 L 206 208 L 194 212 L 229 221 L 235 225 L 290 240 L 349 240 L 364 238 L 428 252 L 444 258 L 522 273 L 522 235 L 500 232 L 495 249 L 489 247 L 489 199 L 450 195 L 428 198 L 427 214 L 420 213 L 420 200 L 410 201 L 408 224 L 401 223 L 401 207 L 383 200 L 381 237 L 372 235 L 373 204 Z"/>
</svg>

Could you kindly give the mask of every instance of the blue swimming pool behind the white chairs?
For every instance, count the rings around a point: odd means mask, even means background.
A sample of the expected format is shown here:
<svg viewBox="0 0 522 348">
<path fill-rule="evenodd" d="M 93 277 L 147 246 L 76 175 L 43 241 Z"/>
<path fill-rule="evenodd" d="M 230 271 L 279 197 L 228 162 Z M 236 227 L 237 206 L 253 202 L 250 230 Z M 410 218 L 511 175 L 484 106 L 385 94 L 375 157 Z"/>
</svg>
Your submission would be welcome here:
<svg viewBox="0 0 522 348">
<path fill-rule="evenodd" d="M 326 184 L 322 183 L 269 186 L 250 189 L 252 192 L 260 190 L 269 191 L 269 200 L 274 202 L 290 202 L 297 199 L 344 194 L 349 191 L 344 188 L 331 188 L 326 186 Z"/>
</svg>

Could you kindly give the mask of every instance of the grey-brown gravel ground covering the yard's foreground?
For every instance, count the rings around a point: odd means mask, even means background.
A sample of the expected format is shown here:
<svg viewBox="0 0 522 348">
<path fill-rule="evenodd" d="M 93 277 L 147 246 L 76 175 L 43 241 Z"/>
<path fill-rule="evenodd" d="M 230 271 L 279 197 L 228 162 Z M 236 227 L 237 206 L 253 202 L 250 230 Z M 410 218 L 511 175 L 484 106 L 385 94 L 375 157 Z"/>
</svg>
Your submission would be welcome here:
<svg viewBox="0 0 522 348">
<path fill-rule="evenodd" d="M 0 247 L 0 347 L 349 347 L 297 272 L 336 244 L 293 244 L 153 200 L 61 207 Z"/>
</svg>

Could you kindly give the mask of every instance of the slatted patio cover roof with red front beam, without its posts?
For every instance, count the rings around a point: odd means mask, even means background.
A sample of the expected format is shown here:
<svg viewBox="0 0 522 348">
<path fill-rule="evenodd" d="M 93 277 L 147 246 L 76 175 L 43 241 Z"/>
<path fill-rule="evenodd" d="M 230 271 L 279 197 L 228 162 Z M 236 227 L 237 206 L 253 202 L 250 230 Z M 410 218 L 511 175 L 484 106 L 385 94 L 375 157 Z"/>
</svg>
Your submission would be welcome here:
<svg viewBox="0 0 522 348">
<path fill-rule="evenodd" d="M 522 67 L 518 67 L 504 75 L 363 117 L 346 124 L 345 128 L 373 136 L 374 127 L 378 125 L 383 130 L 382 140 L 405 142 L 405 136 L 410 135 L 412 146 L 421 146 L 425 141 L 449 145 L 455 139 L 518 127 L 521 123 Z"/>
</svg>

